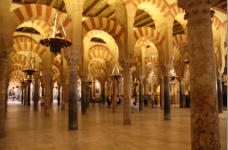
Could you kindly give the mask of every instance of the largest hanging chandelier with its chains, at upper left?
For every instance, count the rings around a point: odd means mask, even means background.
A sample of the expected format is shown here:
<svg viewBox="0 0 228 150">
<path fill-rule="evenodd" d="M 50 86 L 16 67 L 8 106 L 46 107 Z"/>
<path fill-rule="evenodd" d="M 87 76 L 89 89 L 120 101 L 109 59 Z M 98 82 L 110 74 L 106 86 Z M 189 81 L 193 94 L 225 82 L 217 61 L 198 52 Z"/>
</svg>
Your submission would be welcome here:
<svg viewBox="0 0 228 150">
<path fill-rule="evenodd" d="M 58 0 L 56 1 L 56 3 L 58 4 Z M 40 40 L 40 44 L 46 47 L 50 46 L 50 51 L 54 54 L 60 53 L 62 48 L 69 47 L 72 44 L 72 42 L 66 38 L 66 32 L 64 30 L 62 21 L 58 16 L 58 7 L 56 8 L 57 10 L 56 10 L 56 15 L 54 20 L 52 37 L 48 36 Z M 61 33 L 58 33 L 58 34 L 55 33 L 58 21 L 60 22 L 60 26 L 62 28 L 64 35 L 62 35 Z"/>
</svg>

